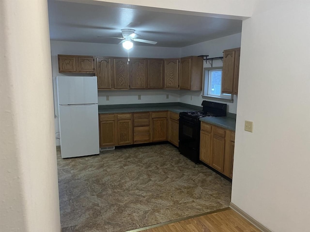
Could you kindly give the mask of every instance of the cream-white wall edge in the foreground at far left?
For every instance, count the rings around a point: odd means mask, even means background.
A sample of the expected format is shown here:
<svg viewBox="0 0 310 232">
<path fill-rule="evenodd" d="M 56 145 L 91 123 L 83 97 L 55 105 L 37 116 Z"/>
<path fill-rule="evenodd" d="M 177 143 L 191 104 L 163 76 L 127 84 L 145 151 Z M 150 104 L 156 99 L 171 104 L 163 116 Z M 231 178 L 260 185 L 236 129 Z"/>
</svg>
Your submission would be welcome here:
<svg viewBox="0 0 310 232">
<path fill-rule="evenodd" d="M 47 1 L 0 9 L 0 231 L 60 232 Z"/>
</svg>

